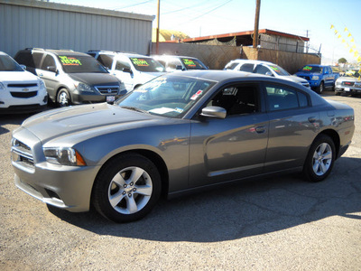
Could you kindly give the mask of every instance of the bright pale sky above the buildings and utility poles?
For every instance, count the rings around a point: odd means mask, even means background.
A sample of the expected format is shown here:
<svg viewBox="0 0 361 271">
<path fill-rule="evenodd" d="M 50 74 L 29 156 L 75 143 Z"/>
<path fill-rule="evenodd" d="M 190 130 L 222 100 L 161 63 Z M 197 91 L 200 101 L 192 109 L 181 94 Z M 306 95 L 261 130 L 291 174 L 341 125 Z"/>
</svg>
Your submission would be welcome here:
<svg viewBox="0 0 361 271">
<path fill-rule="evenodd" d="M 158 0 L 51 0 L 135 14 L 157 14 Z M 190 37 L 252 31 L 256 0 L 160 0 L 160 29 Z M 361 0 L 261 0 L 259 29 L 310 38 L 322 63 L 361 56 Z M 157 19 L 153 21 L 156 27 Z M 359 51 L 359 54 L 358 54 Z M 360 59 L 358 59 L 360 60 Z"/>
</svg>

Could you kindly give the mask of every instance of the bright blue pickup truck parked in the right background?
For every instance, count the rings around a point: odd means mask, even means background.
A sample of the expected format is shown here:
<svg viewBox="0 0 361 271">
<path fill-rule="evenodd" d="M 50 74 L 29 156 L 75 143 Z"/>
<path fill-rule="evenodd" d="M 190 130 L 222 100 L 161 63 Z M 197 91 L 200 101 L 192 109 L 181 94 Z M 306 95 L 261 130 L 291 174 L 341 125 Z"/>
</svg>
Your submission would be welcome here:
<svg viewBox="0 0 361 271">
<path fill-rule="evenodd" d="M 333 89 L 339 77 L 338 72 L 333 72 L 330 66 L 313 64 L 304 66 L 300 71 L 296 72 L 296 75 L 307 79 L 310 82 L 310 88 L 319 94 L 325 88 Z"/>
</svg>

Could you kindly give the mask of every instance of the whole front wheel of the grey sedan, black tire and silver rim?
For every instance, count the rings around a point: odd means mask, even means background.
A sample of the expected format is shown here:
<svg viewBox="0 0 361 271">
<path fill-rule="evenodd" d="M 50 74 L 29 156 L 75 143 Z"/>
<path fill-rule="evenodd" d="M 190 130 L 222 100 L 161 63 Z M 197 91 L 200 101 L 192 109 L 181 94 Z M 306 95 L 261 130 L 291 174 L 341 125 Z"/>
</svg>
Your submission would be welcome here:
<svg viewBox="0 0 361 271">
<path fill-rule="evenodd" d="M 161 175 L 152 161 L 139 154 L 121 154 L 97 174 L 91 201 L 106 219 L 131 222 L 153 209 L 161 190 Z"/>
</svg>

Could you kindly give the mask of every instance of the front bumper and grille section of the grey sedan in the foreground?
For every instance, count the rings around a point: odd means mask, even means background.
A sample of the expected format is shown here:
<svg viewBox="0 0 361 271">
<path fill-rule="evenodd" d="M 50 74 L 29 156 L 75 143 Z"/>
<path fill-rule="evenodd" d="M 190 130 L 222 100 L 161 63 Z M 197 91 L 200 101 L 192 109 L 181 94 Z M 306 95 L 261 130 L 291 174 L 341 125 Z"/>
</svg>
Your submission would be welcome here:
<svg viewBox="0 0 361 271">
<path fill-rule="evenodd" d="M 15 185 L 32 197 L 70 211 L 87 211 L 100 169 L 96 166 L 65 166 L 48 163 L 41 141 L 26 129 L 15 132 L 12 164 Z M 13 139 L 14 141 L 14 139 Z"/>
</svg>

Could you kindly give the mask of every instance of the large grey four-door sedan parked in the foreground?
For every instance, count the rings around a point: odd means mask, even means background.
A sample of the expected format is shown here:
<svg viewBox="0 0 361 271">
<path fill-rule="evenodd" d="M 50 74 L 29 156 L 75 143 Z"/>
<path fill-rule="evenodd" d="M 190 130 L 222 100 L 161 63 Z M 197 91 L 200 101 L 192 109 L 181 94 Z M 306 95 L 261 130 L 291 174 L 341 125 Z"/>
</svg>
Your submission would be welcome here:
<svg viewBox="0 0 361 271">
<path fill-rule="evenodd" d="M 273 173 L 324 180 L 354 110 L 300 84 L 225 70 L 165 74 L 106 103 L 53 109 L 13 133 L 18 188 L 56 207 L 139 220 L 173 197 Z M 222 186 L 221 186 L 222 187 Z"/>
</svg>

